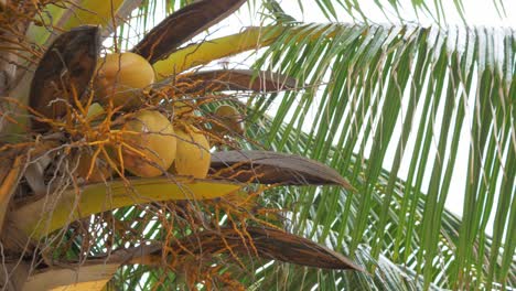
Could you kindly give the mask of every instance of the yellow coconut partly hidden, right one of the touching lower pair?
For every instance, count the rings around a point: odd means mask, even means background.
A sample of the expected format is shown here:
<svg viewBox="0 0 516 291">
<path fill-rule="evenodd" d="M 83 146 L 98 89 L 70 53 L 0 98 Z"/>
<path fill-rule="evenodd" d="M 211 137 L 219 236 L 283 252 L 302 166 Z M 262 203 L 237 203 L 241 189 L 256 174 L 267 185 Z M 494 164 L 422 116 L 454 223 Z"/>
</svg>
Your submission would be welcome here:
<svg viewBox="0 0 516 291">
<path fill-rule="evenodd" d="M 184 130 L 178 128 L 175 134 L 178 136 L 178 152 L 170 172 L 205 179 L 212 158 L 206 137 L 192 126 Z"/>
</svg>

